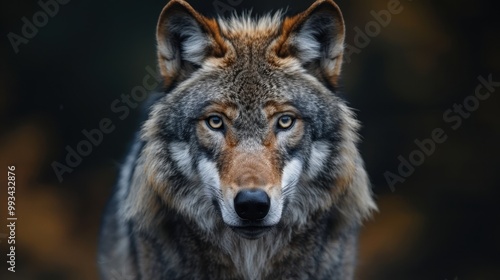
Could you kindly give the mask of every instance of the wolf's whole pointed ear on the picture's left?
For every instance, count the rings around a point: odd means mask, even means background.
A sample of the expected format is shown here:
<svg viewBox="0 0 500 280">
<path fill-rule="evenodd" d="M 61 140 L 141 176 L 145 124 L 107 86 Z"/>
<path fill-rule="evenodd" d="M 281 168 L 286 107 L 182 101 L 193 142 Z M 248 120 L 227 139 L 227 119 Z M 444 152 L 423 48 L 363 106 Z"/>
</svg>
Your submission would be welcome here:
<svg viewBox="0 0 500 280">
<path fill-rule="evenodd" d="M 223 57 L 227 49 L 217 22 L 183 0 L 172 0 L 163 8 L 156 41 L 165 87 L 187 78 L 205 59 Z"/>
</svg>

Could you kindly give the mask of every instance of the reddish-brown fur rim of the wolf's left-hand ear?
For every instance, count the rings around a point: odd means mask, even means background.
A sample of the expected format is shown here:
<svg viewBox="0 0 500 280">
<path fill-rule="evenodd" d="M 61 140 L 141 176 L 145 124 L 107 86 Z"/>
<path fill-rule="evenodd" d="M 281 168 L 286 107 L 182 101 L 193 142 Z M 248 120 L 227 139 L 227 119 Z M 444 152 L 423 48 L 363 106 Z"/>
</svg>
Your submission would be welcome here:
<svg viewBox="0 0 500 280">
<path fill-rule="evenodd" d="M 215 19 L 209 19 L 198 13 L 191 5 L 183 0 L 172 0 L 162 10 L 157 24 L 156 39 L 159 46 L 158 49 L 158 64 L 160 67 L 161 75 L 164 78 L 164 86 L 168 87 L 179 75 L 180 58 L 179 57 L 165 57 L 161 53 L 160 48 L 162 44 L 168 42 L 169 37 L 172 35 L 167 21 L 176 14 L 185 14 L 195 19 L 199 27 L 205 32 L 207 39 L 210 41 L 210 49 L 207 56 L 223 57 L 227 51 L 227 45 L 219 31 L 219 25 Z M 172 38 L 170 38 L 172 39 Z M 173 46 L 165 46 L 166 48 Z"/>
</svg>

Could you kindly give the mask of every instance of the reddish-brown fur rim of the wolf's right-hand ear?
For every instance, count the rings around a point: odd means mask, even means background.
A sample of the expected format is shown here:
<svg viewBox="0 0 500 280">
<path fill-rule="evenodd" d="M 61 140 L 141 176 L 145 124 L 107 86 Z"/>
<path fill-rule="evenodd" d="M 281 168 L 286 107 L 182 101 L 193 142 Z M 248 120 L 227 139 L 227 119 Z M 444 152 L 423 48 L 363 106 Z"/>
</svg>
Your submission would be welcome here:
<svg viewBox="0 0 500 280">
<path fill-rule="evenodd" d="M 318 13 L 327 13 L 331 15 L 331 19 L 335 21 L 335 30 L 332 30 L 331 32 L 336 32 L 334 40 L 335 45 L 339 45 L 340 49 L 342 49 L 345 37 L 345 25 L 340 8 L 332 0 L 317 0 L 306 11 L 284 19 L 281 28 L 281 35 L 276 42 L 276 47 L 274 49 L 279 58 L 286 58 L 295 55 L 296 46 L 293 45 L 293 37 L 301 30 L 308 19 Z M 322 65 L 322 72 L 333 85 L 337 84 L 338 76 L 340 75 L 342 51 L 340 51 L 338 56 L 335 58 L 335 65 L 333 67 Z"/>
</svg>

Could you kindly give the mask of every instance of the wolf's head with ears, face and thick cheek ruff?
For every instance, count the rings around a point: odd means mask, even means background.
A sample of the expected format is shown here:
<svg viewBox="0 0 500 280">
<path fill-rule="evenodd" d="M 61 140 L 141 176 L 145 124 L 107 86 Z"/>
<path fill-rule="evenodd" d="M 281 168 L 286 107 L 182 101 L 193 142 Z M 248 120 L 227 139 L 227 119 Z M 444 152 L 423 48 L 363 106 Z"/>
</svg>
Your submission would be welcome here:
<svg viewBox="0 0 500 280">
<path fill-rule="evenodd" d="M 332 208 L 351 223 L 375 209 L 358 124 L 336 95 L 344 23 L 333 1 L 215 20 L 173 0 L 157 43 L 166 94 L 142 130 L 126 215 L 147 224 L 167 207 L 256 239 Z"/>
</svg>

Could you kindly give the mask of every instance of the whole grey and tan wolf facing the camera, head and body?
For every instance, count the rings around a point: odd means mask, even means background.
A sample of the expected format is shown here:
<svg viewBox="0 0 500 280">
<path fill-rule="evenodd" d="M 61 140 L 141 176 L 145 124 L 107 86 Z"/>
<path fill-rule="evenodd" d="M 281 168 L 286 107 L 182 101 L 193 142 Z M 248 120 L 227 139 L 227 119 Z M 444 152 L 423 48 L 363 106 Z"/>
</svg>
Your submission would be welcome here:
<svg viewBox="0 0 500 280">
<path fill-rule="evenodd" d="M 345 26 L 318 0 L 208 18 L 170 1 L 163 81 L 103 217 L 103 279 L 352 279 L 376 210 L 339 97 Z"/>
</svg>

